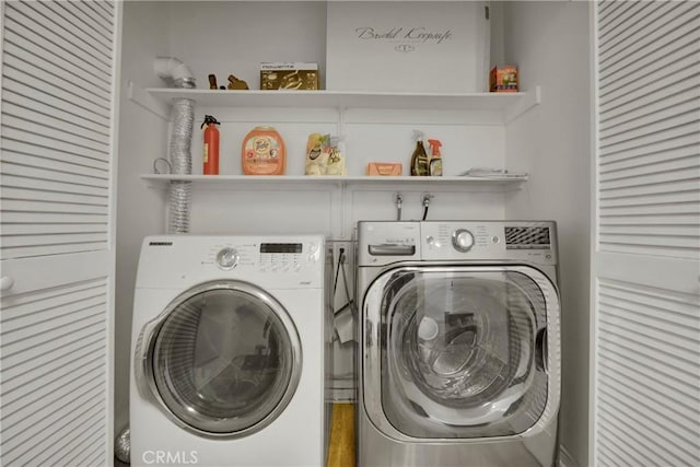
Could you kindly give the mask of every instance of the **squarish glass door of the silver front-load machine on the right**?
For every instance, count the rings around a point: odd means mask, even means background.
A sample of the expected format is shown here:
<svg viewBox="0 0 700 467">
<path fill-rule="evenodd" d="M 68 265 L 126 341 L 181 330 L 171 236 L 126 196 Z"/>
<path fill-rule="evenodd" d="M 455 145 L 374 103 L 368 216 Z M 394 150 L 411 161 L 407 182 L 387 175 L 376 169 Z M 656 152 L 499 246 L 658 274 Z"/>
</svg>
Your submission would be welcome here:
<svg viewBox="0 0 700 467">
<path fill-rule="evenodd" d="M 377 364 L 365 366 L 377 370 L 365 374 L 363 394 L 381 395 L 381 410 L 369 413 L 377 427 L 417 439 L 490 437 L 542 417 L 552 396 L 548 308 L 558 313 L 558 300 L 544 275 L 517 269 L 406 267 L 372 284 L 368 296 L 381 292 L 365 310 L 377 312 L 370 341 L 378 345 L 365 354 Z"/>
</svg>

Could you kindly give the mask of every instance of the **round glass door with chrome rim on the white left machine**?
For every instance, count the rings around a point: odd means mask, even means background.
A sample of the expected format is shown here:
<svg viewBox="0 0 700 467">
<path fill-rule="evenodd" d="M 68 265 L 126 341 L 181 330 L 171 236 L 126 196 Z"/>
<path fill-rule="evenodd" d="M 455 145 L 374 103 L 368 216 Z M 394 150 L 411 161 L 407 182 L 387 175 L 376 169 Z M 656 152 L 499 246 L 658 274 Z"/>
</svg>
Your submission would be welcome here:
<svg viewBox="0 0 700 467">
<path fill-rule="evenodd" d="M 151 392 L 175 422 L 199 434 L 262 429 L 299 383 L 293 322 L 271 295 L 245 282 L 210 282 L 180 294 L 147 338 Z"/>
</svg>

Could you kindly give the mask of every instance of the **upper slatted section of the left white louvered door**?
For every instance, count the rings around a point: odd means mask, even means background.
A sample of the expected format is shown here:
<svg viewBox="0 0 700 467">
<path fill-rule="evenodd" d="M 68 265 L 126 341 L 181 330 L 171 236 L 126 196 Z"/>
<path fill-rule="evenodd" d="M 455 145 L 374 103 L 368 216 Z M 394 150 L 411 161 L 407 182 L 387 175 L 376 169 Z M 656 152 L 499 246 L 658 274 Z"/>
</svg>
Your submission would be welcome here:
<svg viewBox="0 0 700 467">
<path fill-rule="evenodd" d="M 5 5 L 0 259 L 107 248 L 114 38 L 105 21 L 89 4 Z"/>
</svg>

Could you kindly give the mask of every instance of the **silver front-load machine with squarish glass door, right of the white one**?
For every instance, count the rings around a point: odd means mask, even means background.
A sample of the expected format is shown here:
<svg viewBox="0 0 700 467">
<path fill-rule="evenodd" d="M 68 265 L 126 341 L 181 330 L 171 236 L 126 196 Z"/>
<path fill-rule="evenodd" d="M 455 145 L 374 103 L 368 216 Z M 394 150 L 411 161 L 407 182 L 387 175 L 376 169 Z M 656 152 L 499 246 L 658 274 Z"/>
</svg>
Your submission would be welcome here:
<svg viewBox="0 0 700 467">
<path fill-rule="evenodd" d="M 553 222 L 359 222 L 358 464 L 552 466 Z"/>
</svg>

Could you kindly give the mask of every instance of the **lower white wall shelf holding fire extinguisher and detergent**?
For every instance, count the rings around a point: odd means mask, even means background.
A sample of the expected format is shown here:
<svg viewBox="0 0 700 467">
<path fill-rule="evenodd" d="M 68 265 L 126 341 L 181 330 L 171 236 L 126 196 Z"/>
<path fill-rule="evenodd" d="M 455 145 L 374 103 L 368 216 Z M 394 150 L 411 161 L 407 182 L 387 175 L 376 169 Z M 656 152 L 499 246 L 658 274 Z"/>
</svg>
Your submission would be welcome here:
<svg viewBox="0 0 700 467">
<path fill-rule="evenodd" d="M 275 189 L 293 189 L 308 185 L 406 185 L 406 186 L 447 186 L 457 185 L 464 187 L 488 186 L 502 190 L 517 189 L 527 182 L 527 176 L 499 176 L 499 177 L 411 177 L 411 176 L 310 176 L 310 175 L 171 175 L 171 174 L 143 174 L 141 179 L 155 188 L 166 188 L 171 182 L 191 182 L 197 187 L 261 187 Z"/>
</svg>

